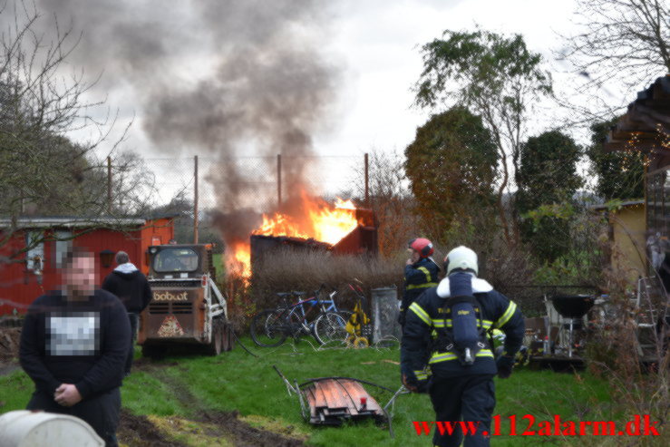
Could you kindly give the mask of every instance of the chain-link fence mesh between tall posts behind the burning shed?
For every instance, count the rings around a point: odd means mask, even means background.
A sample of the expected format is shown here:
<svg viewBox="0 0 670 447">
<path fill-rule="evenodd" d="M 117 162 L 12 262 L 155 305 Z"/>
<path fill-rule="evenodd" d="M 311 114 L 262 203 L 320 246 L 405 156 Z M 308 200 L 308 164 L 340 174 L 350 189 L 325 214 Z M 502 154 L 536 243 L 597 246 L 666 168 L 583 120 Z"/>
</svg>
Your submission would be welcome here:
<svg viewBox="0 0 670 447">
<path fill-rule="evenodd" d="M 363 154 L 300 158 L 189 157 L 147 158 L 142 160 L 141 169 L 151 180 L 152 202 L 156 208 L 168 206 L 175 199 L 196 199 L 197 175 L 199 211 L 249 208 L 263 212 L 276 208 L 281 198 L 286 199 L 300 188 L 326 199 L 349 198 L 364 189 L 360 175 L 363 165 Z M 112 188 L 113 182 L 112 176 Z"/>
</svg>

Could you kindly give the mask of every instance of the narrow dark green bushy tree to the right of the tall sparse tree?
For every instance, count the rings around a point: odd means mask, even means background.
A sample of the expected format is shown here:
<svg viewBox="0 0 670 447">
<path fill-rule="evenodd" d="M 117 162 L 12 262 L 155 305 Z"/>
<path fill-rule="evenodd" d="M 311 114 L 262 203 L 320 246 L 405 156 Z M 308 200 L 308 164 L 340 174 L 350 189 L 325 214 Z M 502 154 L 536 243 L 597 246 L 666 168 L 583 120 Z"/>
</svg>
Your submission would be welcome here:
<svg viewBox="0 0 670 447">
<path fill-rule="evenodd" d="M 569 210 L 583 182 L 577 173 L 581 154 L 578 144 L 560 131 L 545 131 L 521 146 L 516 196 L 525 218 L 521 238 L 541 260 L 553 261 L 568 251 Z"/>
</svg>

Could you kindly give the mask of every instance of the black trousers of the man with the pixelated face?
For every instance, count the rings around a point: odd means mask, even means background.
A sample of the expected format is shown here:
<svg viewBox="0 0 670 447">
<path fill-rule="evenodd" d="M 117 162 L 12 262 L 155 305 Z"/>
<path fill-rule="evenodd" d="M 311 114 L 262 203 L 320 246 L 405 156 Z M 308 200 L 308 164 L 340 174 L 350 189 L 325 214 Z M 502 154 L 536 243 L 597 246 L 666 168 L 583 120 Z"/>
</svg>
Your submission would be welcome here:
<svg viewBox="0 0 670 447">
<path fill-rule="evenodd" d="M 26 410 L 42 410 L 47 413 L 69 414 L 92 426 L 106 447 L 117 447 L 116 428 L 121 413 L 121 390 L 114 388 L 107 393 L 83 400 L 71 407 L 64 407 L 53 401 L 53 396 L 35 391 Z"/>
</svg>

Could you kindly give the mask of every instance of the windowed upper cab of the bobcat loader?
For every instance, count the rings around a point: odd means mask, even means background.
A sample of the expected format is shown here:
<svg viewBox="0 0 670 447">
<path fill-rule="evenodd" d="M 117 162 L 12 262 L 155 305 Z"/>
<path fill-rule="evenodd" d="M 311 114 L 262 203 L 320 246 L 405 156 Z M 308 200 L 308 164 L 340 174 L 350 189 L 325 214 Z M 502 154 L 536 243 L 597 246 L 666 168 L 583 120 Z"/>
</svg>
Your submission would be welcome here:
<svg viewBox="0 0 670 447">
<path fill-rule="evenodd" d="M 214 273 L 209 245 L 152 246 L 147 254 L 150 279 L 199 278 Z"/>
</svg>

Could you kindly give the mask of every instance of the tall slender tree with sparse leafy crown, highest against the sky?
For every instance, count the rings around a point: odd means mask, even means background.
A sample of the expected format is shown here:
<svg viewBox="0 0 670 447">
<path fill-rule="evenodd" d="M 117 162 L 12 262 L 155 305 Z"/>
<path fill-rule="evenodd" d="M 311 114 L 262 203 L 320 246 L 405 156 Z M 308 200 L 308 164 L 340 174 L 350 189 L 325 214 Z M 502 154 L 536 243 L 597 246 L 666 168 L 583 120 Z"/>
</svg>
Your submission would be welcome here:
<svg viewBox="0 0 670 447">
<path fill-rule="evenodd" d="M 445 31 L 442 37 L 422 46 L 423 72 L 414 86 L 415 103 L 429 109 L 460 104 L 481 116 L 498 151 L 498 215 L 513 245 L 519 234 L 506 212 L 505 193 L 519 168 L 533 104 L 552 92 L 549 73 L 520 34 Z"/>
</svg>

